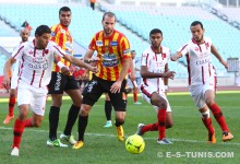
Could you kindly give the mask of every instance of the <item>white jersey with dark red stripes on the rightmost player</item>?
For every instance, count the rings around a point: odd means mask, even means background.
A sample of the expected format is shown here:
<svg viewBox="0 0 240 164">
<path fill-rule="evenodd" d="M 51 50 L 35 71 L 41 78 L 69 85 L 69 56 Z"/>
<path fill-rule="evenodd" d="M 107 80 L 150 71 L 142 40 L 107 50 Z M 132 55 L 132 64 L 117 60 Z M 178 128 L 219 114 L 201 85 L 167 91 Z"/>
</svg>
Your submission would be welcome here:
<svg viewBox="0 0 240 164">
<path fill-rule="evenodd" d="M 200 45 L 192 38 L 178 50 L 187 57 L 189 85 L 205 84 L 216 77 L 212 65 L 211 46 L 209 37 L 204 37 L 204 44 Z"/>
</svg>

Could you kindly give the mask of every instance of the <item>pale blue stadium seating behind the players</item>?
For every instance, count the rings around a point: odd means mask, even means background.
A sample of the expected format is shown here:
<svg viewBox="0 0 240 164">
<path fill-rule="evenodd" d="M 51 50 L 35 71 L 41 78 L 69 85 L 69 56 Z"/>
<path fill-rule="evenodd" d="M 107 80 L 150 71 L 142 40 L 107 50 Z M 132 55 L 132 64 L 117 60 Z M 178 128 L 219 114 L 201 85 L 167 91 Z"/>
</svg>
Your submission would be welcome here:
<svg viewBox="0 0 240 164">
<path fill-rule="evenodd" d="M 240 32 L 199 7 L 133 7 L 104 3 L 100 5 L 100 12 L 98 10 L 93 11 L 89 7 L 82 3 L 68 5 L 70 5 L 73 13 L 70 30 L 74 40 L 85 48 L 88 47 L 92 36 L 101 30 L 103 11 L 113 11 L 119 20 L 116 28 L 127 35 L 131 43 L 131 48 L 136 50 L 139 57 L 148 46 L 148 33 L 152 28 L 158 27 L 163 30 L 163 45 L 169 47 L 171 52 L 175 52 L 179 46 L 190 39 L 189 25 L 195 20 L 203 22 L 206 35 L 212 37 L 213 43 L 225 59 L 239 56 L 240 47 L 237 42 L 233 42 L 233 38 L 240 37 Z M 58 23 L 58 10 L 62 4 L 58 3 L 50 5 L 1 3 L 0 16 L 14 24 L 16 28 L 20 28 L 22 22 L 27 20 L 33 31 L 35 31 L 40 24 L 51 26 Z M 16 16 L 16 13 L 19 16 Z M 188 75 L 184 68 L 187 66 L 184 59 L 181 59 L 180 62 L 170 62 L 169 65 L 171 70 L 180 72 L 177 74 L 177 78 L 185 78 Z M 223 66 L 215 60 L 214 65 L 218 72 L 223 72 L 220 74 L 229 75 L 226 74 Z"/>
</svg>

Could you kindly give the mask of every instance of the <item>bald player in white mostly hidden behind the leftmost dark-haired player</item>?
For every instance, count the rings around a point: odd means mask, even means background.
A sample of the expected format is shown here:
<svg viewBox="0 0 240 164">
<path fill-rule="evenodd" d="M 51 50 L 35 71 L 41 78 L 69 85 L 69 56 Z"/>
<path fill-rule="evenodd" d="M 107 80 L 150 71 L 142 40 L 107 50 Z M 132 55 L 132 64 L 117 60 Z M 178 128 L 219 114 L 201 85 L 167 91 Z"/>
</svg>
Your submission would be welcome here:
<svg viewBox="0 0 240 164">
<path fill-rule="evenodd" d="M 27 28 L 21 28 L 20 31 L 21 43 L 25 43 L 28 40 L 29 31 Z M 17 85 L 17 74 L 19 74 L 19 62 L 15 63 L 14 70 L 12 71 L 11 75 L 11 90 L 9 96 L 9 114 L 7 115 L 5 119 L 3 120 L 4 125 L 8 125 L 14 118 L 14 106 L 16 102 L 16 85 Z"/>
</svg>

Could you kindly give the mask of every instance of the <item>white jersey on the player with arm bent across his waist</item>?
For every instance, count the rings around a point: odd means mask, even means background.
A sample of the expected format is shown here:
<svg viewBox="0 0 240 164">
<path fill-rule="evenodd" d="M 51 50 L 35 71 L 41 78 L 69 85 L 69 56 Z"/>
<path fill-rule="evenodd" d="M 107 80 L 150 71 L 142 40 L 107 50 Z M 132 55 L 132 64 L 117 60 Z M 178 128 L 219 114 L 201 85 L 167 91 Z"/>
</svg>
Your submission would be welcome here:
<svg viewBox="0 0 240 164">
<path fill-rule="evenodd" d="M 142 55 L 141 66 L 146 66 L 149 72 L 164 73 L 165 65 L 168 63 L 170 57 L 170 49 L 161 46 L 161 52 L 155 54 L 152 47 L 148 47 Z M 143 78 L 142 84 L 153 86 L 156 92 L 165 92 L 165 84 L 163 78 Z"/>
</svg>

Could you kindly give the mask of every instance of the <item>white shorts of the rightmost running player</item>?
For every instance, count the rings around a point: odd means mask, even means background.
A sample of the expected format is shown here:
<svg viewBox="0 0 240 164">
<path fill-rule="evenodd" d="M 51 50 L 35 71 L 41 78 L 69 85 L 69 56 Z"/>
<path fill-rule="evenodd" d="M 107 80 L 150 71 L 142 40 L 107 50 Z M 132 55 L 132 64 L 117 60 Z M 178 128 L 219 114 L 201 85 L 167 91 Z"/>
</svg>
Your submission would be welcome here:
<svg viewBox="0 0 240 164">
<path fill-rule="evenodd" d="M 195 106 L 199 109 L 203 108 L 206 105 L 205 99 L 204 99 L 204 95 L 207 90 L 212 90 L 215 92 L 216 84 L 206 83 L 206 84 L 202 84 L 202 85 L 192 85 L 189 87 L 190 95 L 192 96 L 192 98 L 195 103 Z"/>
</svg>

